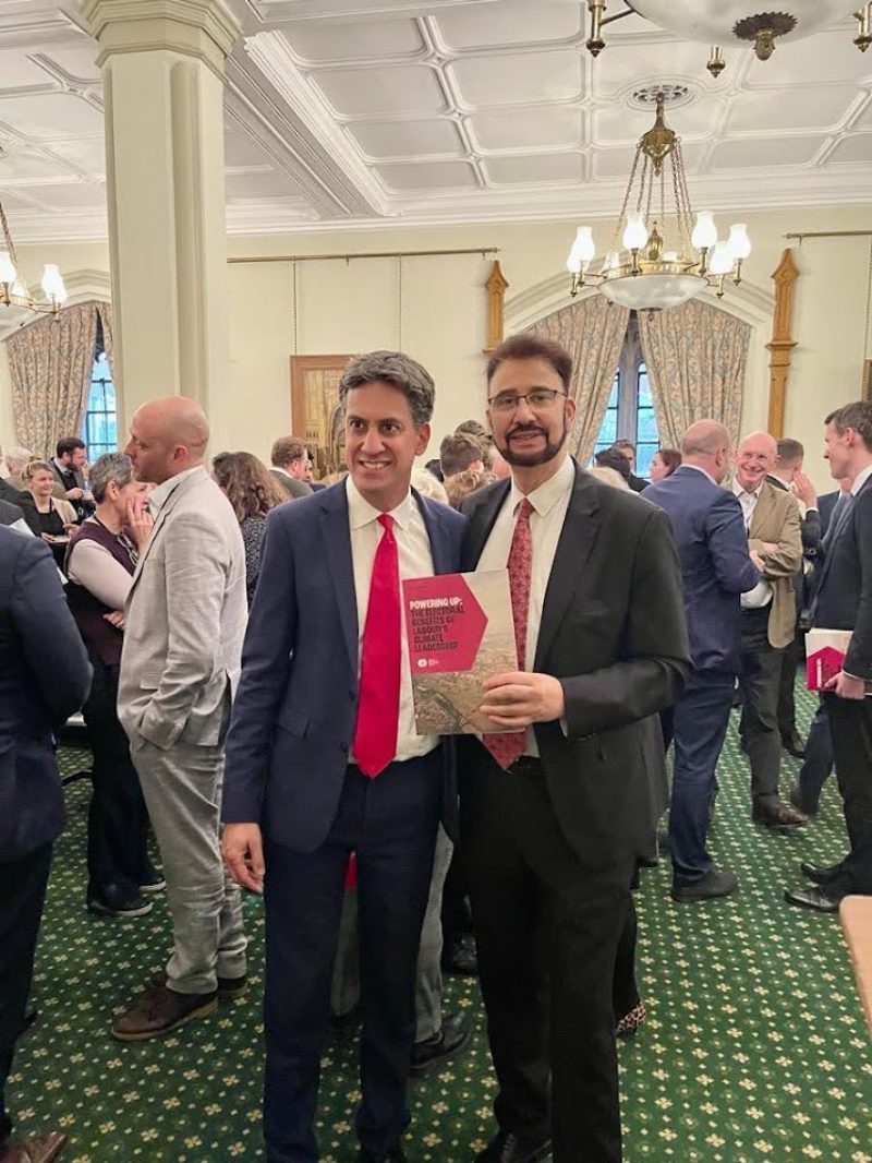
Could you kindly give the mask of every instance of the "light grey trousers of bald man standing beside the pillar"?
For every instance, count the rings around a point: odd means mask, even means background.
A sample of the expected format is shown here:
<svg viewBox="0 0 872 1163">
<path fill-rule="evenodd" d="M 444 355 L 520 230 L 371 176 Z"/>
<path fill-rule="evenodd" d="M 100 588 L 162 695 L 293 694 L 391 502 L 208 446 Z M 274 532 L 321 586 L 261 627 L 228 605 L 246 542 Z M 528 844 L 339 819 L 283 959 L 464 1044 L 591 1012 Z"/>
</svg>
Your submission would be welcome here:
<svg viewBox="0 0 872 1163">
<path fill-rule="evenodd" d="M 242 899 L 219 848 L 222 749 L 178 742 L 163 750 L 134 736 L 130 756 L 166 878 L 173 934 L 167 985 L 210 993 L 217 977 L 246 971 Z"/>
</svg>

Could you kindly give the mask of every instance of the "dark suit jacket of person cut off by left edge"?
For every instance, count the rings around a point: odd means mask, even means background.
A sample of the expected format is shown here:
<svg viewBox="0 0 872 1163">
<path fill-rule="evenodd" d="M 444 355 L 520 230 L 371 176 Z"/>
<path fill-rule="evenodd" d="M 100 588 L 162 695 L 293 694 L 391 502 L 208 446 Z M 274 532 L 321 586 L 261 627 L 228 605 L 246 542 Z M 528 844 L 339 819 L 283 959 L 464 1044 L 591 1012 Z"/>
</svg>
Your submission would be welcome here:
<svg viewBox="0 0 872 1163">
<path fill-rule="evenodd" d="M 0 527 L 0 862 L 64 823 L 51 732 L 83 705 L 91 665 L 47 544 Z"/>
</svg>

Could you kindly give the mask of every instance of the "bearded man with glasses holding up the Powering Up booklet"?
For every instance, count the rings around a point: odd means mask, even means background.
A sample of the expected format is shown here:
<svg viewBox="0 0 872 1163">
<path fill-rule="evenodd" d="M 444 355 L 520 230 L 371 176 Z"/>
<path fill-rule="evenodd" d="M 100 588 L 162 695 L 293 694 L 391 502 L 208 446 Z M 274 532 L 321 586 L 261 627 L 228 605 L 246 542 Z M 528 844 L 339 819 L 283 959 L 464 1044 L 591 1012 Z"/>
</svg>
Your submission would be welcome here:
<svg viewBox="0 0 872 1163">
<path fill-rule="evenodd" d="M 499 1132 L 480 1163 L 614 1163 L 612 986 L 653 789 L 641 720 L 689 665 L 666 516 L 569 456 L 572 357 L 530 333 L 491 356 L 488 421 L 512 479 L 473 493 L 464 570 L 508 568 L 517 671 L 485 683 L 508 734 L 464 737 L 469 872 Z"/>
</svg>

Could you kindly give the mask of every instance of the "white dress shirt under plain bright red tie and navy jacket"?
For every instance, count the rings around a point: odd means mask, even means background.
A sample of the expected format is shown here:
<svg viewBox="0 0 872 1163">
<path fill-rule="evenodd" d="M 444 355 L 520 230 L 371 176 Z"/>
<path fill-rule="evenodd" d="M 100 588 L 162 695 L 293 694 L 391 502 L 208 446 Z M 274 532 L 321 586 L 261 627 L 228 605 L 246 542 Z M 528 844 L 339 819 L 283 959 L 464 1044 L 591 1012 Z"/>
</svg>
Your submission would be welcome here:
<svg viewBox="0 0 872 1163">
<path fill-rule="evenodd" d="M 376 550 L 385 530 L 378 523 L 381 511 L 365 500 L 351 477 L 345 478 L 348 494 L 349 530 L 351 533 L 351 562 L 355 571 L 355 595 L 357 598 L 357 675 L 360 677 L 360 655 L 366 627 L 366 607 L 370 604 L 370 583 Z M 409 491 L 388 516 L 394 519 L 400 562 L 400 580 L 406 578 L 433 577 L 433 554 L 427 526 Z M 396 735 L 395 759 L 412 759 L 427 755 L 438 743 L 437 735 L 419 735 L 415 730 L 415 704 L 412 697 L 412 670 L 409 668 L 408 634 L 402 619 L 400 649 L 400 723 Z M 350 762 L 355 762 L 353 755 Z"/>
</svg>

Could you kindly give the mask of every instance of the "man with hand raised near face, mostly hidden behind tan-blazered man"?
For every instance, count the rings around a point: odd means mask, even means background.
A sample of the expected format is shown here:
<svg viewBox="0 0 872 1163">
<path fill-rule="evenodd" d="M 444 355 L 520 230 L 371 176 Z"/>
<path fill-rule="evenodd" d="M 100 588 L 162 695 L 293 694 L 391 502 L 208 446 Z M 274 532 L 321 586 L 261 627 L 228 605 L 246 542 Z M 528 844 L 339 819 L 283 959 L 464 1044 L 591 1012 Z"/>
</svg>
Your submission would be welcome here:
<svg viewBox="0 0 872 1163">
<path fill-rule="evenodd" d="M 802 537 L 802 568 L 794 577 L 796 594 L 796 633 L 781 655 L 781 677 L 778 691 L 778 729 L 785 751 L 796 759 L 803 758 L 805 744 L 796 730 L 796 669 L 802 659 L 802 633 L 799 618 L 802 613 L 806 571 L 810 571 L 821 548 L 822 522 L 817 508 L 817 490 L 802 471 L 806 450 L 798 440 L 784 437 L 778 442 L 778 459 L 766 480 L 782 492 L 793 493 L 800 502 L 800 535 Z"/>
</svg>

